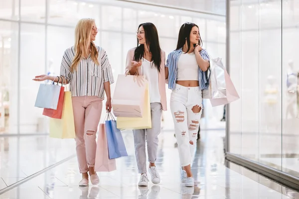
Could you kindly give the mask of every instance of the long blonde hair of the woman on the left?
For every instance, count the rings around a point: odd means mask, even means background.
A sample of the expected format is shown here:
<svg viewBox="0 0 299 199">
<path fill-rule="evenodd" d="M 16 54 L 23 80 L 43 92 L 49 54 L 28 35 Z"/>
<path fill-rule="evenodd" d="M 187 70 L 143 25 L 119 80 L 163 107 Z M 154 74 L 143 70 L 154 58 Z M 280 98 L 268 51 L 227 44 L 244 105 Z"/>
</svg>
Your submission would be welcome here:
<svg viewBox="0 0 299 199">
<path fill-rule="evenodd" d="M 76 54 L 73 59 L 73 63 L 71 65 L 71 71 L 74 71 L 78 68 L 78 63 L 84 57 L 85 54 L 89 54 L 88 52 L 89 42 L 91 47 L 91 52 L 90 52 L 91 59 L 96 64 L 99 64 L 98 61 L 99 52 L 94 42 L 90 40 L 90 34 L 94 23 L 95 23 L 95 19 L 91 19 L 91 18 L 80 19 L 77 23 L 75 29 L 75 45 L 74 45 Z"/>
</svg>

